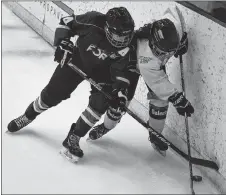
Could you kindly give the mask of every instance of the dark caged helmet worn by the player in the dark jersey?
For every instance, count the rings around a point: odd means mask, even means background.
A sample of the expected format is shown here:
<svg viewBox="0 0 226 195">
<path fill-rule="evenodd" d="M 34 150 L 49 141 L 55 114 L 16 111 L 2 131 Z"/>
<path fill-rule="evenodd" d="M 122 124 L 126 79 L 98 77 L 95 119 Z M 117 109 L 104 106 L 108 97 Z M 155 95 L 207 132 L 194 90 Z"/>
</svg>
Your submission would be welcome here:
<svg viewBox="0 0 226 195">
<path fill-rule="evenodd" d="M 114 47 L 128 46 L 133 38 L 134 26 L 132 16 L 124 7 L 115 7 L 106 13 L 105 33 Z"/>
</svg>

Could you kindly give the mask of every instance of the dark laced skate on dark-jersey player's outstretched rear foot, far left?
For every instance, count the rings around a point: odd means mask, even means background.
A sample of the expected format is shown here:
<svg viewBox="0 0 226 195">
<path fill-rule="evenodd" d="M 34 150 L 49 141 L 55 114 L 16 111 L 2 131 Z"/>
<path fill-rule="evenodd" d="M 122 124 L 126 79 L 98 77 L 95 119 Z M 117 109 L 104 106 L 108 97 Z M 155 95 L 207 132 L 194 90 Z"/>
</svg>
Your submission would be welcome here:
<svg viewBox="0 0 226 195">
<path fill-rule="evenodd" d="M 27 126 L 28 124 L 30 124 L 34 119 L 28 119 L 27 116 L 25 114 L 17 117 L 16 119 L 12 120 L 9 124 L 8 124 L 8 131 L 6 131 L 7 133 L 13 133 L 16 131 L 19 131 L 20 129 L 22 129 L 23 127 Z"/>
</svg>

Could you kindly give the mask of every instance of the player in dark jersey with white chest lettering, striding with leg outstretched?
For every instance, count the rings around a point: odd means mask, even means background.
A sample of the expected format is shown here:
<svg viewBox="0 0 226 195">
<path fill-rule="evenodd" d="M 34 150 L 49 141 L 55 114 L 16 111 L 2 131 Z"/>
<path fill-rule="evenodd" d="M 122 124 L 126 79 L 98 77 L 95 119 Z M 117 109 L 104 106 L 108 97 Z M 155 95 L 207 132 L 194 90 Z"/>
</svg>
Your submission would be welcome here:
<svg viewBox="0 0 226 195">
<path fill-rule="evenodd" d="M 74 64 L 96 82 L 104 84 L 105 90 L 114 97 L 114 101 L 109 102 L 92 87 L 88 107 L 71 125 L 63 141 L 63 153 L 73 162 L 77 157 L 82 157 L 80 138 L 108 108 L 111 108 L 108 112 L 113 117 L 117 118 L 122 113 L 120 108 L 126 103 L 132 73 L 129 69 L 134 48 L 131 43 L 133 34 L 134 21 L 124 7 L 112 8 L 106 14 L 91 11 L 62 18 L 54 38 L 57 47 L 54 60 L 59 65 L 40 96 L 27 107 L 24 114 L 8 124 L 8 131 L 19 131 L 42 112 L 70 97 L 84 80 L 69 66 Z M 78 39 L 74 46 L 70 38 L 76 35 Z"/>
</svg>

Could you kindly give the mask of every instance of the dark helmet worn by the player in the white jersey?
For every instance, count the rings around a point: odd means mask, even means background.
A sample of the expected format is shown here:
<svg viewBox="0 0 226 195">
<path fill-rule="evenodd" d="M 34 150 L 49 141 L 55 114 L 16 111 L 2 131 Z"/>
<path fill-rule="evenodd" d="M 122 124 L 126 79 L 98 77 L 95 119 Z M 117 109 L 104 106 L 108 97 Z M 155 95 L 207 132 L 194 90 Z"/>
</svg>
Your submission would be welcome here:
<svg viewBox="0 0 226 195">
<path fill-rule="evenodd" d="M 169 19 L 153 22 L 148 39 L 152 53 L 160 59 L 173 56 L 180 43 L 177 29 Z"/>
</svg>

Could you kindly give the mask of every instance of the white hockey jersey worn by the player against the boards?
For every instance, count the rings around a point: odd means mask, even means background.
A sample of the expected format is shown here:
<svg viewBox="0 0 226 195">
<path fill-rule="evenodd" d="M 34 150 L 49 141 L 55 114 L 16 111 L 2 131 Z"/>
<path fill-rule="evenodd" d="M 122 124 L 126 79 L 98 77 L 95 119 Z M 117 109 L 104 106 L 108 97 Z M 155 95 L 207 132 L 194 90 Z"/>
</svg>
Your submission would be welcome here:
<svg viewBox="0 0 226 195">
<path fill-rule="evenodd" d="M 182 37 L 182 24 L 177 15 L 176 9 L 168 9 L 164 18 L 170 19 L 176 26 L 180 38 Z M 168 58 L 169 59 L 169 58 Z M 168 98 L 178 91 L 176 85 L 172 84 L 168 75 L 161 68 L 168 61 L 159 60 L 154 56 L 150 47 L 148 39 L 137 40 L 137 69 L 142 75 L 148 87 L 158 96 L 161 100 L 168 100 Z"/>
</svg>

